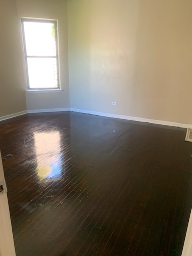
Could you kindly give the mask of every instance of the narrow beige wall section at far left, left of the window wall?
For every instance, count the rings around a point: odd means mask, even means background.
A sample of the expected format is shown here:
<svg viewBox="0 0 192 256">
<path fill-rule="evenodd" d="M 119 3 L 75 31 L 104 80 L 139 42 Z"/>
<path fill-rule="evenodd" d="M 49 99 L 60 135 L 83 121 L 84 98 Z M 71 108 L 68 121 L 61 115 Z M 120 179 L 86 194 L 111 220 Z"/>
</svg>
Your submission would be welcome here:
<svg viewBox="0 0 192 256">
<path fill-rule="evenodd" d="M 15 0 L 0 0 L 0 116 L 26 110 Z"/>
</svg>

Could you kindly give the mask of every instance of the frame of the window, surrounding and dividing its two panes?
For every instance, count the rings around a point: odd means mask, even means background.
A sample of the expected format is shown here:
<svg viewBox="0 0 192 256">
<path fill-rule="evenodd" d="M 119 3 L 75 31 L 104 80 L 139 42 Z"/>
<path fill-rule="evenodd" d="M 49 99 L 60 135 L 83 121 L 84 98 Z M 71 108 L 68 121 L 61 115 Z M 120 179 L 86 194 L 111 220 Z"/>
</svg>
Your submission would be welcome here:
<svg viewBox="0 0 192 256">
<path fill-rule="evenodd" d="M 25 30 L 24 30 L 24 22 L 42 22 L 42 23 L 51 23 L 54 24 L 55 27 L 55 44 L 56 44 L 56 56 L 28 56 L 27 48 L 26 48 L 26 39 L 25 39 Z M 24 47 L 24 58 L 25 58 L 25 66 L 26 66 L 26 76 L 27 76 L 27 90 L 60 90 L 60 74 L 59 74 L 59 54 L 58 54 L 58 20 L 51 19 L 40 19 L 40 18 L 21 18 L 21 27 L 22 27 L 22 39 L 23 39 L 23 47 Z M 29 81 L 29 72 L 28 72 L 28 58 L 54 58 L 56 59 L 56 67 L 57 67 L 57 87 L 36 87 L 30 88 Z"/>
</svg>

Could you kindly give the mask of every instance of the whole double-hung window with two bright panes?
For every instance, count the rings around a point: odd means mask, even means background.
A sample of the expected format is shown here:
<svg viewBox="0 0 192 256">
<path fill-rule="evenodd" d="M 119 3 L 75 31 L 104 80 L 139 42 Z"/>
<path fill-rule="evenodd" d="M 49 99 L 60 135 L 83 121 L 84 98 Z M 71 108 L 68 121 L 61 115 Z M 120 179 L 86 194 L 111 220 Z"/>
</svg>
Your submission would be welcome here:
<svg viewBox="0 0 192 256">
<path fill-rule="evenodd" d="M 58 89 L 57 21 L 22 18 L 28 89 Z"/>
</svg>

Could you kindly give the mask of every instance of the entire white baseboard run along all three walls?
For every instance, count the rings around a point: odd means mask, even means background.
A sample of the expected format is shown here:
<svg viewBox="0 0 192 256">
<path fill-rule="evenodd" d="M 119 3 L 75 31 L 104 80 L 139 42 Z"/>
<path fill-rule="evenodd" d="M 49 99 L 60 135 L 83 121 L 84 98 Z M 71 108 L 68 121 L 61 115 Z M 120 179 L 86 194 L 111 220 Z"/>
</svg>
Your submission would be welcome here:
<svg viewBox="0 0 192 256">
<path fill-rule="evenodd" d="M 112 118 L 119 118 L 119 119 L 125 119 L 125 120 L 151 123 L 151 124 L 161 124 L 161 125 L 167 125 L 167 126 L 175 126 L 175 127 L 181 127 L 181 128 L 192 128 L 192 124 L 182 124 L 182 123 L 168 122 L 168 121 L 155 120 L 155 119 L 147 119 L 147 118 L 141 118 L 141 117 L 135 117 L 135 116 L 123 116 L 123 115 L 118 115 L 118 114 L 109 114 L 109 113 L 96 112 L 96 111 L 90 111 L 90 110 L 82 110 L 82 109 L 78 109 L 78 108 L 46 108 L 46 109 L 26 110 L 26 111 L 10 114 L 10 115 L 7 115 L 7 116 L 1 116 L 0 121 L 6 120 L 6 119 L 9 119 L 9 118 L 13 118 L 13 117 L 16 117 L 16 116 L 21 116 L 21 115 L 24 115 L 24 114 L 46 113 L 46 112 L 62 112 L 62 111 L 73 111 L 73 112 L 91 114 L 91 115 L 96 115 L 96 116 L 106 116 L 106 117 L 112 117 Z"/>
</svg>

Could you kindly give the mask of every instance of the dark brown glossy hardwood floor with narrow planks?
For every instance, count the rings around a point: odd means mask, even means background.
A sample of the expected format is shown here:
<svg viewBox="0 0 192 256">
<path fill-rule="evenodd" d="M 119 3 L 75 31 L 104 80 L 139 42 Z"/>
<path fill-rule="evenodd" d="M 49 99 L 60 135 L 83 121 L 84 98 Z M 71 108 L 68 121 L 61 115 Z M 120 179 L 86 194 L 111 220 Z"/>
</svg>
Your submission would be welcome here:
<svg viewBox="0 0 192 256">
<path fill-rule="evenodd" d="M 73 112 L 0 122 L 17 256 L 180 256 L 186 129 Z"/>
</svg>

